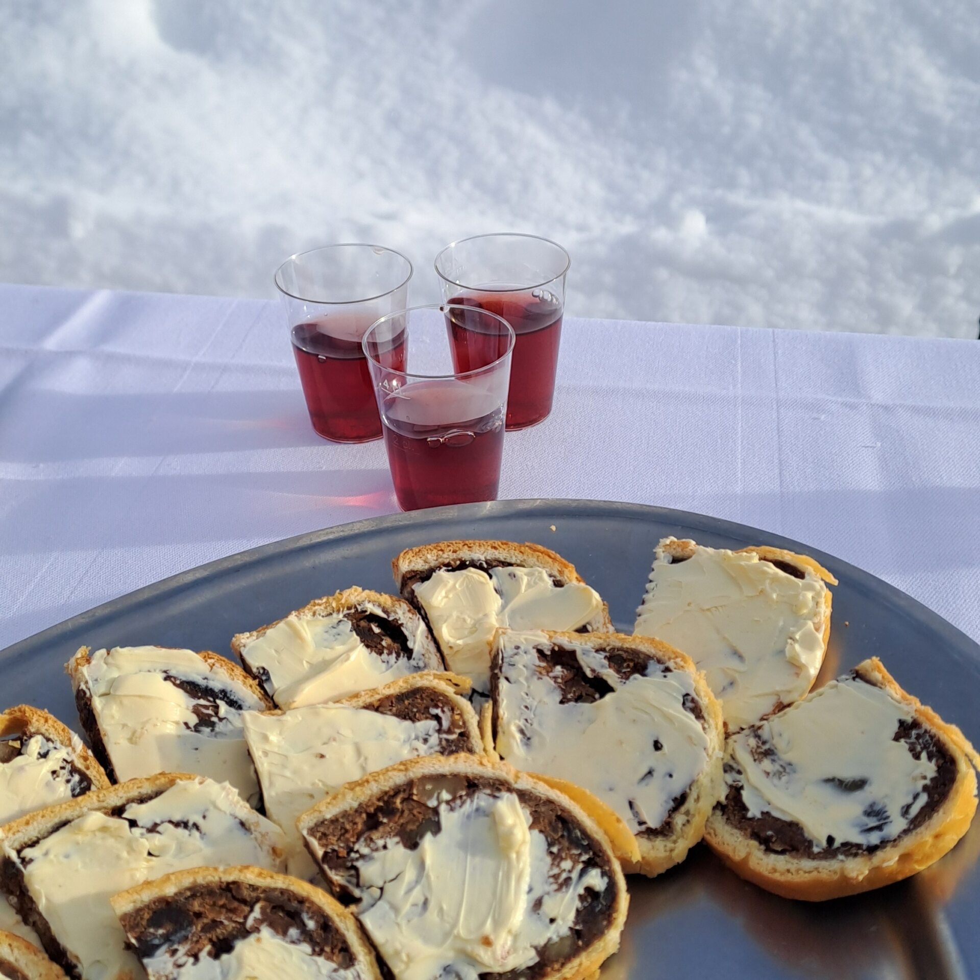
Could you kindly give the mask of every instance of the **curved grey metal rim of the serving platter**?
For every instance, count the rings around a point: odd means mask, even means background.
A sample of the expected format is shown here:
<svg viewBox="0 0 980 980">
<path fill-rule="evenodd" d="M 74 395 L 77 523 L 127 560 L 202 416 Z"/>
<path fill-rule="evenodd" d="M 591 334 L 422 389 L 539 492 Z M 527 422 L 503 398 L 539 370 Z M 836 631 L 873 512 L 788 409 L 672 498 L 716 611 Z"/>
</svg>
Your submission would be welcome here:
<svg viewBox="0 0 980 980">
<path fill-rule="evenodd" d="M 392 527 L 404 527 L 417 524 L 423 527 L 430 523 L 439 523 L 446 518 L 456 520 L 476 519 L 484 516 L 504 517 L 524 514 L 541 510 L 562 516 L 574 516 L 583 513 L 593 515 L 612 514 L 618 516 L 642 519 L 645 516 L 659 519 L 662 523 L 677 523 L 687 529 L 701 529 L 714 533 L 726 534 L 735 539 L 752 540 L 752 535 L 761 535 L 767 539 L 764 543 L 772 543 L 774 547 L 785 548 L 789 551 L 809 555 L 831 571 L 844 572 L 849 577 L 854 576 L 860 584 L 871 593 L 875 601 L 897 608 L 902 613 L 911 615 L 935 630 L 952 648 L 950 654 L 965 654 L 975 663 L 980 664 L 980 643 L 956 627 L 948 619 L 934 610 L 929 609 L 917 599 L 913 599 L 896 585 L 886 582 L 883 578 L 865 571 L 856 564 L 845 562 L 801 541 L 788 538 L 782 534 L 766 531 L 751 524 L 728 520 L 694 511 L 681 511 L 675 508 L 660 507 L 654 504 L 634 504 L 626 501 L 582 500 L 563 497 L 527 497 L 515 500 L 487 501 L 478 504 L 454 504 L 448 507 L 429 508 L 421 511 L 407 511 L 398 514 L 363 517 L 360 520 L 333 524 L 315 531 L 305 531 L 301 534 L 280 538 L 264 545 L 257 545 L 245 551 L 235 552 L 223 558 L 215 559 L 205 564 L 194 565 L 183 571 L 175 572 L 166 578 L 140 586 L 124 593 L 115 599 L 101 603 L 82 613 L 75 613 L 67 619 L 46 626 L 36 633 L 25 636 L 8 647 L 0 649 L 0 661 L 25 654 L 31 648 L 47 644 L 55 640 L 59 633 L 73 630 L 80 626 L 97 622 L 103 616 L 112 616 L 135 604 L 152 600 L 169 592 L 179 592 L 193 587 L 202 579 L 212 575 L 232 571 L 245 565 L 259 564 L 283 553 L 299 552 L 319 545 L 322 542 L 338 538 L 356 538 L 372 531 L 385 530 Z M 836 574 L 836 571 L 835 571 Z"/>
</svg>

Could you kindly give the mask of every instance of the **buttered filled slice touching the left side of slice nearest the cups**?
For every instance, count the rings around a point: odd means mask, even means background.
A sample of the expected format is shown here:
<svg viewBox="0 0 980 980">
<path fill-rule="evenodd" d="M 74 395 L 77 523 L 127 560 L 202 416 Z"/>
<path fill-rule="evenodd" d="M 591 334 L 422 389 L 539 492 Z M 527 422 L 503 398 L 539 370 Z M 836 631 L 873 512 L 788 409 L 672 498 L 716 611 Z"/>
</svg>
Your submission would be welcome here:
<svg viewBox="0 0 980 980">
<path fill-rule="evenodd" d="M 238 633 L 231 647 L 279 708 L 337 701 L 445 667 L 408 603 L 357 587 Z"/>
</svg>

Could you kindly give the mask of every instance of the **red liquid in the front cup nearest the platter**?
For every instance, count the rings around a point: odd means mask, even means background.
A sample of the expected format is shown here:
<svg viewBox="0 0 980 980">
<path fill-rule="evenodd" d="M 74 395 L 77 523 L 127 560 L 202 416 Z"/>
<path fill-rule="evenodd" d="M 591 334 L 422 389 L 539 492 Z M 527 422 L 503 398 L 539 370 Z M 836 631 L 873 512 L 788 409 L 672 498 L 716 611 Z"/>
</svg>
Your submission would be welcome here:
<svg viewBox="0 0 980 980">
<path fill-rule="evenodd" d="M 503 409 L 483 412 L 487 398 L 460 381 L 417 381 L 403 390 L 410 397 L 384 407 L 384 445 L 402 510 L 496 500 Z"/>
</svg>

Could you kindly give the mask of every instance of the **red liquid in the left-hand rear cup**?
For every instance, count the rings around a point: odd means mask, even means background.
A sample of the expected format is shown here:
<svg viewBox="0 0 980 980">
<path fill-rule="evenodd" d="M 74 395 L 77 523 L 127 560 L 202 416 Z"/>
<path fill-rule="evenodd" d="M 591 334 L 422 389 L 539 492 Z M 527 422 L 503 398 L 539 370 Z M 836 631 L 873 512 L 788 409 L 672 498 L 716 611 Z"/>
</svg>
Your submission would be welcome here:
<svg viewBox="0 0 980 980">
<path fill-rule="evenodd" d="M 369 323 L 341 322 L 322 332 L 322 323 L 300 323 L 292 330 L 293 353 L 299 368 L 310 421 L 324 439 L 334 442 L 365 442 L 381 435 L 368 359 L 361 349 L 358 331 Z M 391 367 L 404 370 L 404 346 L 390 355 Z"/>
</svg>

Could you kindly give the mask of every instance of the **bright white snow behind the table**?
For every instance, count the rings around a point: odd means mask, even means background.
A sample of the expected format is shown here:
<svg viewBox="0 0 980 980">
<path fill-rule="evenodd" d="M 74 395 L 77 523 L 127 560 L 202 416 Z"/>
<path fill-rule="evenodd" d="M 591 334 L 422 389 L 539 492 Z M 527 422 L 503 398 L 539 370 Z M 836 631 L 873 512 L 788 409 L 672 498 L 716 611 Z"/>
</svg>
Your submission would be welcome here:
<svg viewBox="0 0 980 980">
<path fill-rule="evenodd" d="M 0 6 L 0 279 L 531 231 L 572 315 L 976 336 L 975 0 Z"/>
</svg>

